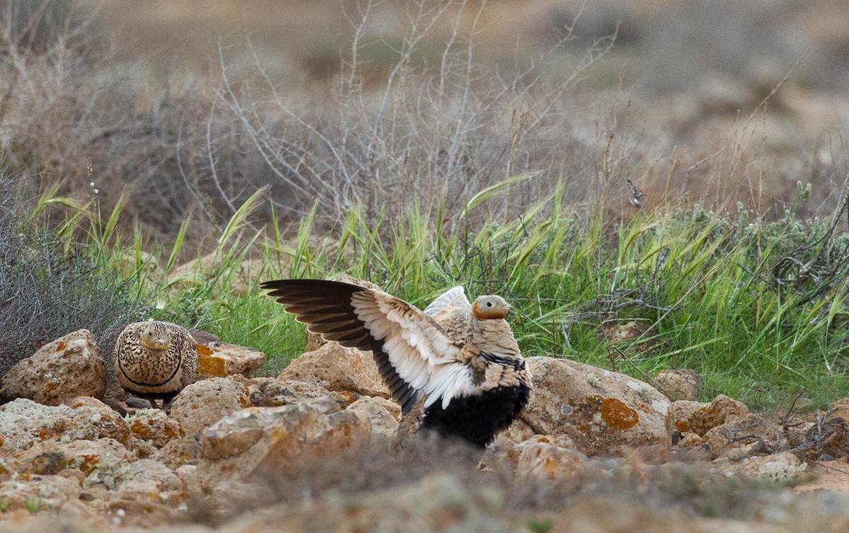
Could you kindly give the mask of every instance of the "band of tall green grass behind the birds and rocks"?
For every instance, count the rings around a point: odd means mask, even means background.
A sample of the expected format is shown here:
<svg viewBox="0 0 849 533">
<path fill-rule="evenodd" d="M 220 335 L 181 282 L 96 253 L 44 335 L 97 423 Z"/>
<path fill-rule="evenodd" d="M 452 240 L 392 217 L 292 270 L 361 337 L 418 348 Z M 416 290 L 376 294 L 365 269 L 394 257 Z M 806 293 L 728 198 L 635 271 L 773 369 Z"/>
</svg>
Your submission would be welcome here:
<svg viewBox="0 0 849 533">
<path fill-rule="evenodd" d="M 788 212 L 767 223 L 742 209 L 715 214 L 695 205 L 635 210 L 631 220 L 611 223 L 565 207 L 558 191 L 514 220 L 468 222 L 499 194 L 486 190 L 453 220 L 441 205 L 384 212 L 376 223 L 354 209 L 326 234 L 308 213 L 287 238 L 277 226 L 248 223 L 263 202 L 259 192 L 223 229 L 216 266 L 180 286 L 169 285 L 167 273 L 185 226 L 171 249 L 155 250 L 138 234 L 115 233 L 120 212 L 103 221 L 96 210 L 69 207 L 68 220 L 88 225 L 84 238 L 104 265 L 141 258 L 143 248 L 168 258 L 159 279 L 141 260 L 121 272 L 157 302 L 155 317 L 264 351 L 267 373 L 300 355 L 304 332 L 258 283 L 347 272 L 419 306 L 455 284 L 471 297 L 503 295 L 518 311 L 512 323 L 526 356 L 569 357 L 638 378 L 694 368 L 706 381 L 704 400 L 723 393 L 782 409 L 802 391 L 808 407 L 849 396 L 842 327 L 849 236 L 830 231 L 830 221 L 802 222 Z M 320 238 L 339 246 L 317 244 Z M 246 294 L 233 292 L 248 256 L 264 264 L 263 273 L 249 280 Z M 601 328 L 630 320 L 651 329 L 613 350 Z"/>
</svg>

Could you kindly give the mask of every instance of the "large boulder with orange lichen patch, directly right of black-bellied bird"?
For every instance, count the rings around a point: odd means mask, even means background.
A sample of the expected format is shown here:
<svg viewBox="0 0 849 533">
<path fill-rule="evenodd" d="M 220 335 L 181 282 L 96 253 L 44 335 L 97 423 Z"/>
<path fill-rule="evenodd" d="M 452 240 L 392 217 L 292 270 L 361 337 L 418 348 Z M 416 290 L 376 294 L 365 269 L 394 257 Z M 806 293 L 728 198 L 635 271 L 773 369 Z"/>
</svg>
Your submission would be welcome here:
<svg viewBox="0 0 849 533">
<path fill-rule="evenodd" d="M 569 435 L 589 456 L 669 446 L 669 401 L 638 379 L 552 357 L 528 357 L 531 401 L 520 418 L 542 435 Z"/>
</svg>

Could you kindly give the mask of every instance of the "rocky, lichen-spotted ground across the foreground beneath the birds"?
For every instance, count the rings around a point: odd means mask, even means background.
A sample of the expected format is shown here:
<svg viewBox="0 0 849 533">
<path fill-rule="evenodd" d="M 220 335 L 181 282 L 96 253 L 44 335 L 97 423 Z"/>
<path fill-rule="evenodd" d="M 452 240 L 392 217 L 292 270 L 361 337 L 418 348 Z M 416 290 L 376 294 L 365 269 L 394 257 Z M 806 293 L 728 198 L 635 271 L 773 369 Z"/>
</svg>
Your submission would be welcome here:
<svg viewBox="0 0 849 533">
<path fill-rule="evenodd" d="M 693 373 L 661 373 L 663 394 L 530 357 L 531 404 L 486 453 L 390 452 L 370 354 L 309 345 L 249 378 L 262 354 L 208 340 L 169 414 L 114 390 L 86 330 L 45 345 L 3 380 L 0 531 L 849 528 L 841 404 L 775 422 L 694 401 Z"/>
</svg>

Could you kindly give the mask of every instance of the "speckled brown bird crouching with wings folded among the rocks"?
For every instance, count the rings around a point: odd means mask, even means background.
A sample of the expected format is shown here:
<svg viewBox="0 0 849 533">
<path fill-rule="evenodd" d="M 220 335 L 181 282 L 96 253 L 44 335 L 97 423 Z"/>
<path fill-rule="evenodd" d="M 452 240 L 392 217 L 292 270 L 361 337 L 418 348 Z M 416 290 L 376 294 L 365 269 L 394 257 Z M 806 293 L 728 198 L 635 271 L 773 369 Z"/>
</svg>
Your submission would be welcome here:
<svg viewBox="0 0 849 533">
<path fill-rule="evenodd" d="M 128 392 L 162 408 L 183 387 L 197 379 L 198 354 L 194 338 L 177 324 L 149 320 L 132 323 L 115 341 L 115 373 Z"/>
</svg>

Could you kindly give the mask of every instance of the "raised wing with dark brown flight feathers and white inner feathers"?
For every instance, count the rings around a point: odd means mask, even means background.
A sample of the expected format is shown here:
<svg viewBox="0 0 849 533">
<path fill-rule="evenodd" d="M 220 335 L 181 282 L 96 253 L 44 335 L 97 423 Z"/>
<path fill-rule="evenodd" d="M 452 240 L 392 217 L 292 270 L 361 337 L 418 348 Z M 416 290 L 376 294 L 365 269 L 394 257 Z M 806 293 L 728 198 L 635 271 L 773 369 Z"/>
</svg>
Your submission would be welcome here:
<svg viewBox="0 0 849 533">
<path fill-rule="evenodd" d="M 392 398 L 408 412 L 420 394 L 427 402 L 474 388 L 471 369 L 458 361 L 463 348 L 436 321 L 403 300 L 374 289 L 318 279 L 261 284 L 296 320 L 324 339 L 374 353 Z M 438 299 L 437 299 L 438 300 Z"/>
</svg>

